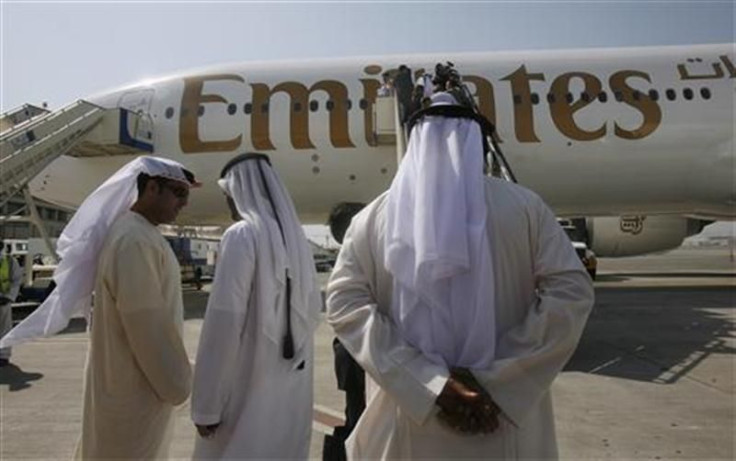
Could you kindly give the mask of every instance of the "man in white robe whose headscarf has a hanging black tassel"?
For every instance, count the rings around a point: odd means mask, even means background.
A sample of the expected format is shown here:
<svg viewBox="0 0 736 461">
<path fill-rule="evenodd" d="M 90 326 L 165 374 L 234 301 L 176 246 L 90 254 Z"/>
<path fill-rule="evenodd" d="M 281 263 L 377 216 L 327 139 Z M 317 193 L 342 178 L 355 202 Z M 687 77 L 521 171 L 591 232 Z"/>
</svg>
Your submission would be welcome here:
<svg viewBox="0 0 736 461">
<path fill-rule="evenodd" d="M 320 297 L 311 249 L 268 157 L 244 154 L 219 182 L 223 235 L 192 388 L 195 459 L 306 459 Z"/>
</svg>

